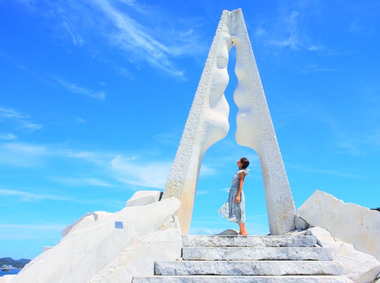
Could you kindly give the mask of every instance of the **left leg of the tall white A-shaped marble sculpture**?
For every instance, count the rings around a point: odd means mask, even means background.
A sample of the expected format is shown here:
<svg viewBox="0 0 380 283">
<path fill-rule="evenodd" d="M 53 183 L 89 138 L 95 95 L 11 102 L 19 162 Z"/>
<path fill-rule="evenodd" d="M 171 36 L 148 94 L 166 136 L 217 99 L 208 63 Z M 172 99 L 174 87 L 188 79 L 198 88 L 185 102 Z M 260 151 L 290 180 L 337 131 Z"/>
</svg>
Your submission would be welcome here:
<svg viewBox="0 0 380 283">
<path fill-rule="evenodd" d="M 181 201 L 177 215 L 182 234 L 190 229 L 203 155 L 230 129 L 230 107 L 224 97 L 232 48 L 230 14 L 223 11 L 220 17 L 164 190 L 163 199 L 175 197 Z"/>
</svg>

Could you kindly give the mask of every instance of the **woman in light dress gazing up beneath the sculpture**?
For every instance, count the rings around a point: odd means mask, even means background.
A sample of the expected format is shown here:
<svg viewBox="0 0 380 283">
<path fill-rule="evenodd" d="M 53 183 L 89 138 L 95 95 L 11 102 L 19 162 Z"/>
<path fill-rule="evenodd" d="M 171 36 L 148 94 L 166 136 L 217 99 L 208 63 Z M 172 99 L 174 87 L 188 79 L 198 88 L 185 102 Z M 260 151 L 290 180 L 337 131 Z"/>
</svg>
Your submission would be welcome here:
<svg viewBox="0 0 380 283">
<path fill-rule="evenodd" d="M 218 210 L 218 213 L 222 217 L 227 218 L 229 221 L 238 223 L 241 235 L 248 235 L 245 228 L 245 199 L 243 193 L 243 183 L 244 177 L 249 173 L 249 169 L 247 169 L 249 161 L 245 157 L 242 157 L 238 160 L 237 165 L 239 170 L 232 178 L 229 200 L 222 205 L 222 207 Z"/>
</svg>

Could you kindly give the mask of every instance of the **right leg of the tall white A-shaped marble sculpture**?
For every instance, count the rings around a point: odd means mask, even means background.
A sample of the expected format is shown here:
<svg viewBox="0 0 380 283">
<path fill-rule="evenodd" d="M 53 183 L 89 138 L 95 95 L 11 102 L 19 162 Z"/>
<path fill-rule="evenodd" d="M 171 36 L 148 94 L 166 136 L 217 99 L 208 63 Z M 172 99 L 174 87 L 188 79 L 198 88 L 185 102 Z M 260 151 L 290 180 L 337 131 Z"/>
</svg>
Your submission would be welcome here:
<svg viewBox="0 0 380 283">
<path fill-rule="evenodd" d="M 293 197 L 241 9 L 231 12 L 231 22 L 238 78 L 234 92 L 234 102 L 239 108 L 235 138 L 239 145 L 257 152 L 269 230 L 271 235 L 282 235 L 295 228 Z"/>
</svg>

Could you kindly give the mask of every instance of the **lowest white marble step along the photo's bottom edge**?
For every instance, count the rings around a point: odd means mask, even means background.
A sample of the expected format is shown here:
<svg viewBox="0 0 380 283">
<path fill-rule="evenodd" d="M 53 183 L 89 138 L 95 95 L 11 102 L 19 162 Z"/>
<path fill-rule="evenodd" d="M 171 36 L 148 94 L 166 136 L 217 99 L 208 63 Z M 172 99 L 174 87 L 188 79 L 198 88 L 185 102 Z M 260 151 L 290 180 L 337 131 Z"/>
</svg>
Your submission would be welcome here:
<svg viewBox="0 0 380 283">
<path fill-rule="evenodd" d="M 153 275 L 134 276 L 132 283 L 346 283 L 345 276 L 219 276 L 219 275 Z"/>
</svg>

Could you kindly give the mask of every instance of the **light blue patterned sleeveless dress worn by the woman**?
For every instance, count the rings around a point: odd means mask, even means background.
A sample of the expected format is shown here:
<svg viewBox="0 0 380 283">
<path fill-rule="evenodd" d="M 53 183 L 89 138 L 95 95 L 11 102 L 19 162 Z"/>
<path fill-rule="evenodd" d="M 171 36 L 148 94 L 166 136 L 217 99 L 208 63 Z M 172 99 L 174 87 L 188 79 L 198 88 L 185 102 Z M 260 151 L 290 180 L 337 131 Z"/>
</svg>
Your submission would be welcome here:
<svg viewBox="0 0 380 283">
<path fill-rule="evenodd" d="M 235 198 L 239 189 L 239 174 L 242 172 L 247 176 L 249 169 L 242 169 L 235 173 L 232 178 L 229 200 L 218 210 L 218 213 L 222 217 L 236 223 L 245 223 L 245 199 L 243 190 L 240 194 L 240 202 L 237 204 L 235 203 Z"/>
</svg>

